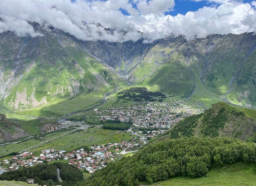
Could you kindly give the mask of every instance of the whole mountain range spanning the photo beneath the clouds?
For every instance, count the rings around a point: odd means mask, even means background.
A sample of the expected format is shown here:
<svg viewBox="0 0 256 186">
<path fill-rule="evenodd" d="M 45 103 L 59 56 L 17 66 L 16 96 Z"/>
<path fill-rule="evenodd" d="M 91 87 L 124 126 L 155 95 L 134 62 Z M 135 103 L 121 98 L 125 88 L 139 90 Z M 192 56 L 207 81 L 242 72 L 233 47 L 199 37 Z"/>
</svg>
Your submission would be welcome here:
<svg viewBox="0 0 256 186">
<path fill-rule="evenodd" d="M 131 85 L 209 105 L 256 107 L 254 33 L 119 43 L 82 41 L 30 24 L 43 37 L 0 34 L 1 110 L 62 117 Z"/>
</svg>

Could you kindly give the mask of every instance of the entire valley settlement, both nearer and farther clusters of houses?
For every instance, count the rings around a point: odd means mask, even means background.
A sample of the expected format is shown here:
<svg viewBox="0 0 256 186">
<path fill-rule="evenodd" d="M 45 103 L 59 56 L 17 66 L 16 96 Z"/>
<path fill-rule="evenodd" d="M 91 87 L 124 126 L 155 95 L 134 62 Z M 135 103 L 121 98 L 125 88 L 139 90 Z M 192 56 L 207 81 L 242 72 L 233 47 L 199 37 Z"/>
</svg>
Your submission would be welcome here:
<svg viewBox="0 0 256 186">
<path fill-rule="evenodd" d="M 200 107 L 201 104 L 193 105 Z M 146 105 L 133 105 L 120 108 L 94 109 L 94 113 L 100 122 L 106 120 L 132 121 L 133 126 L 126 132 L 134 137 L 130 141 L 94 145 L 76 150 L 66 151 L 57 149 L 45 149 L 38 152 L 23 152 L 0 162 L 0 174 L 5 171 L 13 171 L 21 167 L 32 167 L 37 164 L 51 163 L 54 161 L 66 162 L 88 173 L 94 173 L 107 163 L 120 158 L 125 154 L 138 151 L 151 138 L 163 134 L 170 126 L 173 126 L 183 118 L 200 114 L 204 109 L 193 108 L 183 100 L 175 100 L 170 103 L 147 103 Z M 83 125 L 84 129 L 88 126 Z M 81 128 L 81 127 L 80 127 Z M 116 131 L 119 133 L 120 131 Z M 39 154 L 39 155 L 34 155 Z"/>
</svg>

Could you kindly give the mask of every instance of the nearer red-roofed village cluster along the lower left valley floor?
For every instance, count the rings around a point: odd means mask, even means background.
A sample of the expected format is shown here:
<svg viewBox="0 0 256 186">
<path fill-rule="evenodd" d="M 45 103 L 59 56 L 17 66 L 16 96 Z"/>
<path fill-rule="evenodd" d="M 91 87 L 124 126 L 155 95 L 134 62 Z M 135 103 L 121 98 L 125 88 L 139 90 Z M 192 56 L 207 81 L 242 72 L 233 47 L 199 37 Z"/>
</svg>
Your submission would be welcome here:
<svg viewBox="0 0 256 186">
<path fill-rule="evenodd" d="M 32 167 L 36 164 L 51 161 L 66 160 L 65 162 L 76 166 L 78 169 L 84 169 L 89 173 L 105 167 L 106 162 L 114 161 L 122 154 L 137 151 L 142 146 L 142 141 L 134 137 L 130 142 L 123 141 L 120 143 L 108 143 L 101 146 L 90 146 L 87 149 L 65 150 L 45 149 L 38 156 L 32 155 L 32 152 L 24 152 L 23 154 L 14 156 L 9 160 L 1 162 L 7 165 L 7 169 L 0 167 L 0 174 L 5 171 L 13 171 L 19 167 Z"/>
</svg>

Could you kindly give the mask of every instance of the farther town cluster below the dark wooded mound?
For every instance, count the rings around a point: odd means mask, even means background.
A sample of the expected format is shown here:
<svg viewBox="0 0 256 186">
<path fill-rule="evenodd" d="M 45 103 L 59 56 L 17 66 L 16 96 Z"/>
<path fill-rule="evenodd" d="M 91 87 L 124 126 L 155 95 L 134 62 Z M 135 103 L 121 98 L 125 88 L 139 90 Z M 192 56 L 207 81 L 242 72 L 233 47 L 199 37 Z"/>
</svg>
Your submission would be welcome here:
<svg viewBox="0 0 256 186">
<path fill-rule="evenodd" d="M 201 106 L 197 103 L 198 107 Z M 194 105 L 196 106 L 196 105 Z M 186 105 L 183 100 L 166 103 L 147 103 L 147 105 L 134 105 L 129 107 L 94 109 L 100 121 L 132 120 L 137 127 L 169 128 L 185 117 L 200 114 L 205 109 L 193 108 Z"/>
</svg>

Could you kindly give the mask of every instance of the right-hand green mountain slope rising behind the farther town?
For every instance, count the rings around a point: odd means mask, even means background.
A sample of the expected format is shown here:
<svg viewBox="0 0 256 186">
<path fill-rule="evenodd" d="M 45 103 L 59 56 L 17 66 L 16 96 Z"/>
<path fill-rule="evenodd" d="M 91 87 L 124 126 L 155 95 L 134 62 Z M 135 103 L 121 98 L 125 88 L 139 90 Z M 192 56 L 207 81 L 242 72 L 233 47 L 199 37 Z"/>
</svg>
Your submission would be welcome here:
<svg viewBox="0 0 256 186">
<path fill-rule="evenodd" d="M 213 34 L 195 40 L 169 35 L 150 45 L 139 42 L 134 42 L 131 51 L 129 42 L 86 42 L 85 47 L 94 48 L 95 54 L 115 69 L 122 68 L 121 73 L 138 86 L 211 104 L 223 100 L 256 106 L 253 33 Z M 105 55 L 107 52 L 111 55 Z M 115 64 L 110 62 L 113 58 Z"/>
</svg>

